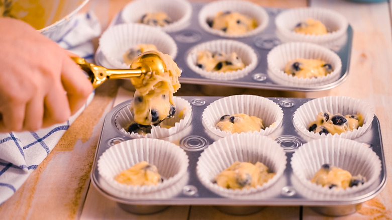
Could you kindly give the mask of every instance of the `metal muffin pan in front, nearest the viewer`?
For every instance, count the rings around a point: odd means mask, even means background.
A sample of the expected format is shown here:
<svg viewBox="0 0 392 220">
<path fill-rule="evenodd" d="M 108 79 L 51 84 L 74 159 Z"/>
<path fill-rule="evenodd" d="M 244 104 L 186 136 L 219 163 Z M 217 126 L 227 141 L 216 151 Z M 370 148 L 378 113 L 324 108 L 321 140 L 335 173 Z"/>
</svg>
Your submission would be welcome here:
<svg viewBox="0 0 392 220">
<path fill-rule="evenodd" d="M 377 181 L 369 186 L 363 194 L 356 196 L 347 196 L 341 199 L 316 200 L 307 198 L 299 192 L 298 184 L 295 184 L 295 176 L 292 173 L 290 160 L 292 154 L 303 144 L 313 140 L 301 135 L 292 124 L 293 114 L 297 108 L 307 101 L 308 98 L 275 98 L 268 99 L 277 103 L 283 111 L 283 121 L 279 128 L 271 133 L 268 137 L 276 140 L 284 149 L 287 164 L 283 175 L 272 186 L 273 190 L 279 193 L 269 197 L 252 197 L 252 198 L 228 198 L 220 196 L 206 188 L 198 179 L 196 167 L 198 159 L 204 149 L 208 148 L 213 142 L 221 137 L 207 130 L 202 123 L 202 114 L 204 109 L 220 96 L 180 96 L 187 100 L 192 107 L 191 123 L 179 133 L 162 138 L 179 145 L 189 157 L 189 166 L 187 175 L 183 177 L 183 187 L 178 189 L 178 194 L 162 199 L 132 198 L 115 196 L 107 186 L 103 185 L 103 178 L 97 170 L 97 161 L 100 156 L 111 146 L 116 143 L 130 140 L 132 138 L 125 136 L 115 126 L 115 118 L 123 109 L 127 107 L 132 100 L 125 101 L 115 106 L 107 114 L 102 128 L 101 136 L 97 144 L 94 164 L 91 171 L 91 180 L 93 185 L 102 194 L 119 203 L 119 205 L 133 213 L 152 213 L 160 211 L 168 205 L 214 205 L 223 212 L 229 214 L 250 214 L 259 211 L 264 206 L 310 206 L 315 211 L 326 215 L 345 215 L 355 212 L 359 205 L 381 192 L 386 184 L 386 168 L 382 146 L 381 132 L 379 121 L 376 116 L 372 121 L 371 127 L 360 137 L 354 139 L 359 143 L 366 143 L 379 157 L 381 161 L 381 172 Z"/>
</svg>

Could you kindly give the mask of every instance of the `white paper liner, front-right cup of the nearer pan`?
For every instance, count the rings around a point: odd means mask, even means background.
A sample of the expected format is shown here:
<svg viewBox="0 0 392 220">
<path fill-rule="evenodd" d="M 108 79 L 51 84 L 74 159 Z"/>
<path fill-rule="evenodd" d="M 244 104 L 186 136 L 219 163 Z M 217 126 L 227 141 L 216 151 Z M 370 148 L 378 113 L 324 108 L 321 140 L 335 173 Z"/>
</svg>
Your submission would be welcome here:
<svg viewBox="0 0 392 220">
<path fill-rule="evenodd" d="M 381 172 L 380 159 L 367 145 L 335 137 L 304 144 L 292 155 L 290 163 L 293 174 L 301 183 L 301 186 L 296 188 L 306 196 L 321 200 L 358 195 L 379 181 Z M 347 170 L 353 176 L 360 174 L 366 178 L 366 182 L 346 189 L 329 189 L 327 186 L 312 183 L 311 179 L 323 164 Z"/>
</svg>

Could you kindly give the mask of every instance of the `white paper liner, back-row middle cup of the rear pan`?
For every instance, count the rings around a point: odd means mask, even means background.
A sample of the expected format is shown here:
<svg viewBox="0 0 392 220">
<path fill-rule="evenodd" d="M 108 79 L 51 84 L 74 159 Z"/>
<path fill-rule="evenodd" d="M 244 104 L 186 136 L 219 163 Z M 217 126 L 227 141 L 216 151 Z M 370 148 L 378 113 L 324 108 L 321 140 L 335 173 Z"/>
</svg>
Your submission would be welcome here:
<svg viewBox="0 0 392 220">
<path fill-rule="evenodd" d="M 238 12 L 257 21 L 257 27 L 244 34 L 228 34 L 221 30 L 212 29 L 207 19 L 214 18 L 218 12 Z M 199 24 L 207 32 L 227 38 L 249 37 L 258 34 L 268 26 L 269 18 L 265 9 L 246 1 L 216 1 L 205 5 L 199 13 Z"/>
</svg>

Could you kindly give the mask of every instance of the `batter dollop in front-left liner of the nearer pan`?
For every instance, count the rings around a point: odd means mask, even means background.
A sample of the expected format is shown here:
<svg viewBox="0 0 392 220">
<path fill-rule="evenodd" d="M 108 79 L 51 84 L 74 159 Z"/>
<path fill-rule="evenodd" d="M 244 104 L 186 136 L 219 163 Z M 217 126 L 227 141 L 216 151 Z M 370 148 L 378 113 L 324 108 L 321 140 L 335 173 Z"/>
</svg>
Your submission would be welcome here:
<svg viewBox="0 0 392 220">
<path fill-rule="evenodd" d="M 115 180 L 127 185 L 157 185 L 162 182 L 156 166 L 142 161 L 127 170 L 121 171 Z"/>
</svg>

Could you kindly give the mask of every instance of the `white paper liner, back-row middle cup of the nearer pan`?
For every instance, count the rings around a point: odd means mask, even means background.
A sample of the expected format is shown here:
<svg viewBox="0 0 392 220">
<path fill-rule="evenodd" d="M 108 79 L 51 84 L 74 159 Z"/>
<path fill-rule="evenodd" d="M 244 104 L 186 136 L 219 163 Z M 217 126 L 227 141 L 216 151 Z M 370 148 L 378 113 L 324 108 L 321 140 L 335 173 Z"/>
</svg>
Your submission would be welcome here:
<svg viewBox="0 0 392 220">
<path fill-rule="evenodd" d="M 233 95 L 218 99 L 208 105 L 202 115 L 203 125 L 218 136 L 230 136 L 232 133 L 222 131 L 215 126 L 222 116 L 238 113 L 256 116 L 263 120 L 264 130 L 253 132 L 259 135 L 271 134 L 279 128 L 283 120 L 282 109 L 272 100 L 257 95 Z"/>
</svg>

